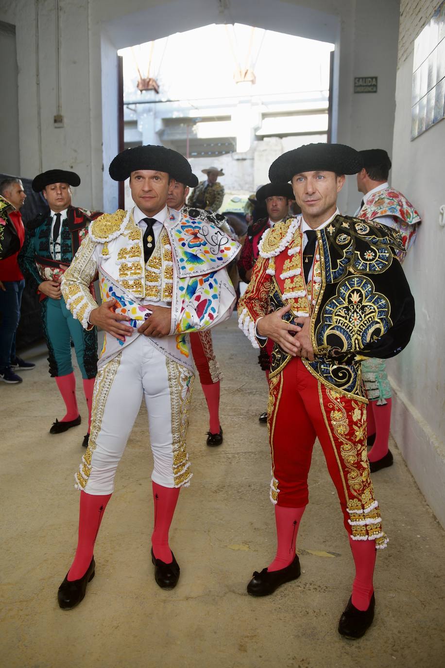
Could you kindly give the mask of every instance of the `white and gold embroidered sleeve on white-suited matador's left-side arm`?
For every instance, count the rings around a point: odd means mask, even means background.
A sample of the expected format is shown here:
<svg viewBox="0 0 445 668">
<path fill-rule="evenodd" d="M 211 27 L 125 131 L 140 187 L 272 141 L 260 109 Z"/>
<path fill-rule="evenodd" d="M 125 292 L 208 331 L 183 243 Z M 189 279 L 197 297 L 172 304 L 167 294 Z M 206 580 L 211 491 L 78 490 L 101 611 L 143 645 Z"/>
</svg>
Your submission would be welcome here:
<svg viewBox="0 0 445 668">
<path fill-rule="evenodd" d="M 65 271 L 61 283 L 67 308 L 73 317 L 80 321 L 82 327 L 88 330 L 93 328 L 88 322 L 89 314 L 98 306 L 89 291 L 89 285 L 97 274 L 96 248 L 97 244 L 88 235 Z"/>
</svg>

